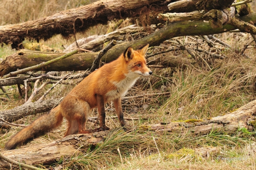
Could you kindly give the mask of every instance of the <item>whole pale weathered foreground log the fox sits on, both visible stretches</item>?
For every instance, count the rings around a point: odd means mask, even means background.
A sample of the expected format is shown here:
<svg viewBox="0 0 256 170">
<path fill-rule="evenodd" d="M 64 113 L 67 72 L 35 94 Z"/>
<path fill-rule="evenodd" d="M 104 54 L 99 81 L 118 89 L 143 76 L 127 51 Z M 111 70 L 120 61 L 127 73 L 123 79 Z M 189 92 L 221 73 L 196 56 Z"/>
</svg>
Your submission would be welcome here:
<svg viewBox="0 0 256 170">
<path fill-rule="evenodd" d="M 186 120 L 172 123 L 162 123 L 143 126 L 143 129 L 160 134 L 190 134 L 190 135 L 206 135 L 211 131 L 223 131 L 228 134 L 233 134 L 239 128 L 252 130 L 255 127 L 256 115 L 256 100 L 242 106 L 233 113 L 224 116 L 212 117 L 207 120 Z M 146 127 L 146 128 L 145 128 Z M 102 142 L 103 137 L 108 136 L 115 131 L 101 131 L 93 134 L 76 134 L 69 135 L 65 138 L 56 140 L 50 144 L 34 145 L 25 148 L 20 148 L 11 151 L 2 152 L 3 155 L 16 160 L 24 161 L 26 164 L 41 164 L 50 165 L 56 160 L 69 157 L 74 153 L 87 152 L 91 145 L 97 145 Z M 82 146 L 82 147 L 81 147 Z M 0 166 L 9 166 L 0 160 Z"/>
</svg>

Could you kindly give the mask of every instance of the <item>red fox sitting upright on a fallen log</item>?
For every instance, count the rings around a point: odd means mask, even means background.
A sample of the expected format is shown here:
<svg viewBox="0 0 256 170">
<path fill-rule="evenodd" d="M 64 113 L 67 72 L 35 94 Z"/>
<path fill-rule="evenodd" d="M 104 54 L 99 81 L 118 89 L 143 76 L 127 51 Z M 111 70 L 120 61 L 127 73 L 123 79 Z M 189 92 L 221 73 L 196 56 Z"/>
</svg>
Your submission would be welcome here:
<svg viewBox="0 0 256 170">
<path fill-rule="evenodd" d="M 105 124 L 104 104 L 110 101 L 114 102 L 121 126 L 125 126 L 121 97 L 140 76 L 148 77 L 153 73 L 146 66 L 144 56 L 147 50 L 148 45 L 136 51 L 128 47 L 116 60 L 92 72 L 68 93 L 60 105 L 16 133 L 5 144 L 4 150 L 15 149 L 16 146 L 26 144 L 53 130 L 60 126 L 63 117 L 68 121 L 64 137 L 76 133 L 108 130 L 109 127 Z M 86 121 L 95 107 L 98 107 L 100 128 L 86 130 Z"/>
</svg>

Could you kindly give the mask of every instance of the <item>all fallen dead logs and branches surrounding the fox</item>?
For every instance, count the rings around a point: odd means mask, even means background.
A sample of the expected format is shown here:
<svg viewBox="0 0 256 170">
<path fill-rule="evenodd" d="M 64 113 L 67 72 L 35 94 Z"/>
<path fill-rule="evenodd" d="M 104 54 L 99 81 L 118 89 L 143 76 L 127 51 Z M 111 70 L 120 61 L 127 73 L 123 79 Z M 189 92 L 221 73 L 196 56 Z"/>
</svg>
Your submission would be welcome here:
<svg viewBox="0 0 256 170">
<path fill-rule="evenodd" d="M 256 41 L 255 36 L 256 29 L 254 23 L 256 23 L 256 14 L 250 14 L 249 11 L 247 16 L 235 17 L 235 7 L 231 7 L 233 1 L 217 1 L 216 4 L 203 6 L 196 3 L 198 1 L 178 1 L 168 5 L 170 12 L 189 12 L 193 10 L 204 10 L 205 13 L 164 13 L 159 14 L 160 12 L 166 12 L 167 1 L 148 1 L 148 2 L 139 2 L 139 1 L 129 1 L 129 3 L 122 4 L 124 9 L 121 8 L 120 3 L 116 0 L 110 2 L 107 1 L 98 1 L 94 4 L 81 7 L 74 11 L 68 10 L 67 15 L 65 12 L 58 13 L 54 16 L 41 18 L 36 21 L 31 21 L 19 25 L 7 25 L 0 28 L 0 36 L 2 43 L 12 43 L 13 48 L 21 48 L 20 43 L 25 37 L 31 39 L 48 39 L 54 34 L 62 34 L 63 36 L 69 36 L 75 34 L 76 32 L 85 30 L 92 25 L 98 23 L 106 23 L 108 20 L 111 20 L 118 16 L 117 18 L 126 18 L 130 17 L 139 17 L 138 15 L 142 11 L 147 11 L 146 14 L 153 13 L 151 18 L 146 15 L 148 18 L 147 25 L 153 24 L 152 19 L 158 18 L 167 21 L 169 24 L 163 24 L 163 21 L 159 25 L 151 26 L 136 26 L 130 25 L 114 32 L 106 33 L 101 36 L 87 37 L 87 39 L 82 39 L 80 42 L 76 41 L 71 46 L 69 46 L 64 52 L 70 52 L 70 50 L 75 50 L 74 55 L 68 56 L 68 58 L 59 60 L 58 63 L 49 64 L 48 61 L 55 60 L 60 56 L 65 56 L 65 53 L 43 53 L 43 52 L 32 52 L 28 50 L 20 50 L 8 57 L 0 64 L 0 87 L 3 91 L 3 95 L 6 98 L 0 98 L 1 100 L 9 100 L 9 93 L 5 90 L 4 86 L 16 85 L 19 89 L 20 97 L 25 96 L 25 103 L 21 106 L 13 108 L 12 110 L 4 110 L 0 112 L 0 118 L 3 122 L 0 121 L 0 127 L 10 128 L 6 122 L 12 122 L 18 120 L 21 117 L 24 117 L 28 114 L 35 114 L 40 112 L 45 112 L 54 107 L 61 99 L 56 100 L 44 100 L 44 97 L 58 84 L 63 83 L 64 80 L 74 79 L 73 82 L 78 83 L 85 76 L 90 74 L 95 68 L 99 66 L 99 55 L 102 52 L 97 52 L 103 48 L 103 44 L 108 44 L 108 41 L 116 39 L 116 47 L 106 50 L 101 56 L 102 62 L 110 62 L 116 59 L 120 53 L 124 51 L 128 46 L 132 46 L 134 49 L 138 49 L 145 44 L 150 44 L 152 46 L 148 51 L 147 56 L 147 65 L 148 67 L 155 68 L 165 68 L 165 67 L 187 67 L 193 63 L 199 63 L 201 66 L 206 67 L 206 70 L 212 71 L 217 69 L 219 66 L 213 64 L 215 60 L 223 60 L 227 57 L 222 53 L 221 46 L 231 48 L 227 43 L 219 40 L 213 35 L 222 32 L 228 32 L 231 30 L 239 29 L 240 31 L 249 32 Z M 116 3 L 116 4 L 110 4 Z M 178 5 L 177 5 L 178 4 Z M 182 6 L 180 6 L 182 4 Z M 202 4 L 205 4 L 202 2 Z M 111 6 L 113 5 L 113 6 Z M 155 7 L 155 5 L 158 7 Z M 122 7 L 123 7 L 122 6 Z M 127 10 L 129 9 L 129 10 Z M 152 10 L 157 9 L 157 10 Z M 79 13 L 79 10 L 80 11 Z M 87 10 L 87 11 L 86 11 Z M 92 10 L 98 10 L 95 14 Z M 151 10 L 151 11 L 150 11 Z M 85 11 L 85 13 L 83 13 Z M 130 11 L 130 12 L 128 12 Z M 72 15 L 71 15 L 72 14 Z M 77 15 L 76 15 L 77 14 Z M 108 16 L 107 14 L 111 14 Z M 67 17 L 67 16 L 71 17 Z M 102 17 L 104 15 L 104 17 Z M 185 17 L 186 15 L 186 17 Z M 84 18 L 83 18 L 83 17 Z M 92 18 L 92 16 L 94 18 Z M 241 15 L 242 16 L 242 15 Z M 60 19 L 60 17 L 62 17 Z M 75 17 L 75 19 L 74 19 Z M 143 16 L 142 16 L 143 17 Z M 145 16 L 144 16 L 145 18 Z M 59 19 L 56 21 L 55 19 Z M 65 20 L 66 19 L 66 20 Z M 97 20 L 98 19 L 98 20 Z M 52 20 L 52 22 L 49 22 Z M 97 20 L 93 23 L 92 21 Z M 191 21 L 193 20 L 193 21 Z M 207 20 L 208 22 L 205 22 Z M 151 22 L 152 21 L 152 22 Z M 65 23 L 66 27 L 63 27 Z M 89 23 L 89 24 L 88 24 Z M 145 23 L 143 23 L 145 24 Z M 44 29 L 48 28 L 47 31 Z M 61 26 L 60 29 L 58 26 Z M 39 28 L 39 27 L 40 28 Z M 64 28 L 64 29 L 63 29 Z M 17 31 L 17 29 L 20 29 Z M 150 30 L 153 32 L 149 34 L 144 29 Z M 11 31 L 10 31 L 11 30 Z M 36 30 L 36 31 L 35 31 Z M 142 32 L 143 30 L 143 32 Z M 64 31 L 64 32 L 63 32 Z M 17 34 L 18 32 L 18 34 Z M 36 32 L 36 34 L 35 34 Z M 49 33 L 52 32 L 52 33 Z M 2 35 L 1 35 L 2 34 Z M 4 35 L 4 36 L 3 36 Z M 127 35 L 127 36 L 126 36 Z M 206 36 L 208 35 L 208 36 Z M 126 36 L 126 37 L 125 37 Z M 191 42 L 183 41 L 179 36 L 188 36 L 187 39 L 191 39 Z M 175 38 L 176 37 L 176 38 Z M 200 48 L 200 43 L 198 40 L 203 40 L 203 43 L 207 43 L 210 50 L 205 50 Z M 128 41 L 126 41 L 128 40 Z M 195 43 L 196 41 L 196 43 Z M 113 42 L 113 41 L 112 41 Z M 161 43 L 168 44 L 159 46 Z M 186 43 L 185 43 L 186 42 Z M 216 42 L 218 43 L 216 46 Z M 111 44 L 111 43 L 110 43 Z M 250 43 L 247 43 L 244 46 L 242 51 L 235 50 L 235 53 L 246 56 L 244 50 L 248 47 Z M 111 48 L 111 47 L 109 47 Z M 77 53 L 86 52 L 86 53 Z M 106 49 L 106 48 L 105 48 Z M 157 49 L 157 50 L 156 50 Z M 161 49 L 161 50 L 159 50 Z M 189 58 L 179 58 L 175 56 L 168 56 L 169 52 L 175 52 L 178 50 L 184 50 L 191 57 Z M 104 50 L 103 50 L 104 51 Z M 156 52 L 157 51 L 157 52 Z M 76 53 L 76 54 L 75 54 Z M 160 55 L 160 57 L 156 55 Z M 167 56 L 165 55 L 167 54 Z M 249 56 L 246 56 L 249 58 Z M 95 61 L 95 58 L 99 60 Z M 44 65 L 45 63 L 47 65 Z M 96 63 L 96 64 L 93 64 Z M 22 70 L 25 68 L 30 68 L 35 65 L 41 65 L 36 69 L 28 69 L 26 71 Z M 17 72 L 17 69 L 21 69 L 21 72 Z M 70 73 L 66 76 L 56 76 L 55 73 L 49 71 L 81 71 L 89 70 L 82 73 L 79 73 L 79 76 L 71 75 Z M 34 70 L 46 71 L 45 73 L 36 73 L 31 72 Z M 19 70 L 20 71 L 20 70 Z M 14 74 L 15 73 L 15 74 Z M 154 75 L 171 82 L 173 85 L 175 81 L 170 80 L 168 77 L 163 77 L 160 75 Z M 75 78 L 77 80 L 75 80 Z M 38 88 L 39 84 L 40 87 Z M 28 86 L 33 84 L 33 91 L 31 96 L 28 96 Z M 54 84 L 52 88 L 48 89 L 40 99 L 35 102 L 32 102 L 37 93 L 42 90 L 45 85 Z M 21 88 L 21 85 L 24 86 L 24 89 Z M 166 93 L 157 93 L 157 95 L 170 95 L 171 92 Z M 137 97 L 148 96 L 149 94 L 137 95 Z M 124 97 L 123 100 L 129 100 L 136 96 Z M 177 122 L 161 122 L 159 124 L 153 124 L 148 126 L 143 126 L 133 129 L 134 131 L 145 131 L 145 133 L 154 132 L 156 135 L 161 134 L 189 134 L 189 135 L 204 135 L 208 134 L 211 131 L 225 131 L 225 133 L 234 133 L 237 131 L 237 127 L 246 128 L 248 130 L 254 129 L 255 126 L 255 105 L 256 101 L 252 101 L 247 105 L 241 107 L 233 113 L 226 114 L 220 117 L 212 117 L 207 120 L 185 120 Z M 46 107 L 47 106 L 47 107 Z M 112 117 L 116 118 L 116 117 Z M 96 117 L 89 119 L 89 121 L 95 122 Z M 138 118 L 140 119 L 140 118 Z M 144 118 L 145 119 L 145 118 Z M 128 120 L 128 119 L 127 119 Z M 131 120 L 134 120 L 132 118 Z M 97 121 L 96 121 L 97 122 Z M 132 130 L 132 131 L 133 131 Z M 27 164 L 40 164 L 50 165 L 55 161 L 58 161 L 65 157 L 70 157 L 74 154 L 83 154 L 90 147 L 100 145 L 100 142 L 104 142 L 104 139 L 108 138 L 111 134 L 116 133 L 116 131 L 101 131 L 94 134 L 78 134 L 70 135 L 66 138 L 56 140 L 50 144 L 37 145 L 32 147 L 22 147 L 13 151 L 5 151 L 3 155 L 16 160 L 24 161 Z M 130 133 L 129 131 L 125 133 Z M 38 152 L 39 151 L 39 152 Z M 9 163 L 2 161 L 2 167 L 8 167 Z"/>
</svg>

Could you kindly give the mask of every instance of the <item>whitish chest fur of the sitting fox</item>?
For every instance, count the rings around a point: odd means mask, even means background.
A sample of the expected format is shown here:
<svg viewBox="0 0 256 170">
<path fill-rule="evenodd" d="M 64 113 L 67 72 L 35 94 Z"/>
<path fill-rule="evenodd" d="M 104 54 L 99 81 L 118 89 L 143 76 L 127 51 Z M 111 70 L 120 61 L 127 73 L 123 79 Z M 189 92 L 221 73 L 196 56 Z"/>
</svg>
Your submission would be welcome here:
<svg viewBox="0 0 256 170">
<path fill-rule="evenodd" d="M 112 82 L 115 86 L 115 90 L 110 90 L 106 94 L 107 102 L 117 99 L 125 95 L 125 93 L 132 87 L 132 85 L 136 82 L 139 78 L 138 74 L 127 74 L 126 77 L 121 81 L 114 81 Z"/>
</svg>

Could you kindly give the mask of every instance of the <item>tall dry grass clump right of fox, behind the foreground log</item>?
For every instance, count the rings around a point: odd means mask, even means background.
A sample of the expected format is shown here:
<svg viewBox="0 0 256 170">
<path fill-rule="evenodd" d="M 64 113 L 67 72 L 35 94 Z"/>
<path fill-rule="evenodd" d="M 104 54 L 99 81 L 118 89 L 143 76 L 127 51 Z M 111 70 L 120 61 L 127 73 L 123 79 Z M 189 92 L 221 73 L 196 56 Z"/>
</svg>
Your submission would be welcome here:
<svg viewBox="0 0 256 170">
<path fill-rule="evenodd" d="M 178 119 L 207 118 L 227 113 L 255 99 L 256 68 L 252 60 L 227 59 L 207 71 L 189 67 L 173 74 L 171 97 L 159 112 Z"/>
</svg>

